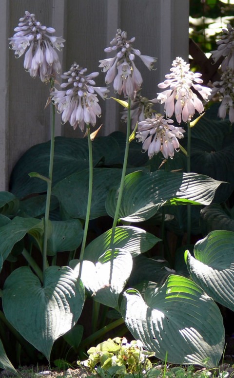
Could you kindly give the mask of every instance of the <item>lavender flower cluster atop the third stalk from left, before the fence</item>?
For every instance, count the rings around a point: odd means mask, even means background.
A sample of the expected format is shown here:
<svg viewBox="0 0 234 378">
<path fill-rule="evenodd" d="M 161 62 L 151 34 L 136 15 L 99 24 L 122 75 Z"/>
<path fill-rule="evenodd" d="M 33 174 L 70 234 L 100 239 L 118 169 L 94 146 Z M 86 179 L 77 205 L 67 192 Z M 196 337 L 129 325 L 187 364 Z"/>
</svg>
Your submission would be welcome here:
<svg viewBox="0 0 234 378">
<path fill-rule="evenodd" d="M 140 57 L 149 70 L 156 62 L 156 58 L 141 55 L 139 50 L 134 49 L 132 47 L 134 41 L 135 38 L 127 40 L 127 33 L 117 29 L 116 37 L 110 42 L 112 47 L 107 47 L 104 50 L 106 53 L 114 51 L 115 57 L 99 60 L 99 67 L 106 72 L 106 84 L 110 84 L 114 80 L 114 90 L 119 95 L 123 92 L 125 96 L 131 98 L 142 84 L 142 76 L 134 63 L 135 56 Z"/>
</svg>

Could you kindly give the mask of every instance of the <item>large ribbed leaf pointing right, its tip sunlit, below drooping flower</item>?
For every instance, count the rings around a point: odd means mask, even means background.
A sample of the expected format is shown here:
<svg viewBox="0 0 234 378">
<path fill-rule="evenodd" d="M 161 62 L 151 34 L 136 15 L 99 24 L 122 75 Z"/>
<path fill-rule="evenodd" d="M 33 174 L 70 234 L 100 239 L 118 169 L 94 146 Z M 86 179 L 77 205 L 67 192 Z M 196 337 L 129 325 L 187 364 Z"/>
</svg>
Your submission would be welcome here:
<svg viewBox="0 0 234 378">
<path fill-rule="evenodd" d="M 188 203 L 209 205 L 221 184 L 208 176 L 158 170 L 137 171 L 125 177 L 119 218 L 127 222 L 142 222 L 156 214 L 165 204 Z M 106 210 L 114 217 L 118 190 L 109 192 Z"/>
</svg>

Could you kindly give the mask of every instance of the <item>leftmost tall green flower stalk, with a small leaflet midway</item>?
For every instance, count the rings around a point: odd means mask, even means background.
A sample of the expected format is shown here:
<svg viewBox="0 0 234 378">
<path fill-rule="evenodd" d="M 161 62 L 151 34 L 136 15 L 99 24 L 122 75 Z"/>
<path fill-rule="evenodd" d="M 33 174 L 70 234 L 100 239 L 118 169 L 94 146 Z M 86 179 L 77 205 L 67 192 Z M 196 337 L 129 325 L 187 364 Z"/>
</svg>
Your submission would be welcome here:
<svg viewBox="0 0 234 378">
<path fill-rule="evenodd" d="M 50 78 L 50 86 L 53 88 L 54 79 Z M 51 102 L 51 140 L 50 140 L 50 163 L 49 163 L 49 180 L 47 181 L 47 194 L 45 205 L 45 218 L 44 218 L 44 240 L 43 240 L 43 281 L 45 275 L 45 269 L 47 267 L 47 240 L 48 240 L 48 228 L 49 228 L 49 212 L 50 212 L 50 200 L 52 189 L 52 176 L 54 165 L 54 149 L 55 149 L 55 105 Z"/>
</svg>

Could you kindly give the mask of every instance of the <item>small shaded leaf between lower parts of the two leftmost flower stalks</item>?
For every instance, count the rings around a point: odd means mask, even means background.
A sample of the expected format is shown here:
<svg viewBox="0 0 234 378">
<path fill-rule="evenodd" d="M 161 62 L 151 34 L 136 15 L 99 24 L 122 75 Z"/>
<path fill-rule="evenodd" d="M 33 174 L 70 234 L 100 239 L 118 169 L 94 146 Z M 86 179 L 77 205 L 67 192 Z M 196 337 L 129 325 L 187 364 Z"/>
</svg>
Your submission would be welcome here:
<svg viewBox="0 0 234 378">
<path fill-rule="evenodd" d="M 47 254 L 70 251 L 78 248 L 82 241 L 83 228 L 78 219 L 70 221 L 50 221 Z"/>
</svg>

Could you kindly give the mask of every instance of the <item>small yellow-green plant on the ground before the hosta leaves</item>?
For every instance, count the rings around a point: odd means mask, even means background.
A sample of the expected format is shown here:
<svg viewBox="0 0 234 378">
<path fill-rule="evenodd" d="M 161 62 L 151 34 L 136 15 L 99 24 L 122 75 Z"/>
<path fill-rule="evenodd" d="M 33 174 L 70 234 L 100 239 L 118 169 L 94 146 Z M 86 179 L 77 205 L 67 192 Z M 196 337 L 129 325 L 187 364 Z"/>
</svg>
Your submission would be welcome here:
<svg viewBox="0 0 234 378">
<path fill-rule="evenodd" d="M 121 375 L 145 374 L 152 369 L 149 357 L 154 352 L 143 350 L 140 340 L 127 342 L 126 338 L 114 338 L 101 342 L 96 347 L 91 347 L 88 352 L 89 358 L 77 361 L 79 366 L 88 367 L 93 373 L 97 372 L 101 377 L 106 374 Z"/>
</svg>

